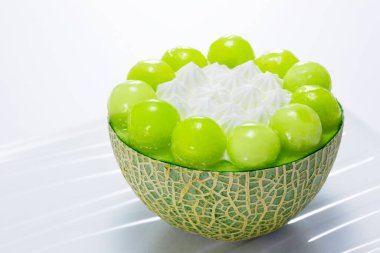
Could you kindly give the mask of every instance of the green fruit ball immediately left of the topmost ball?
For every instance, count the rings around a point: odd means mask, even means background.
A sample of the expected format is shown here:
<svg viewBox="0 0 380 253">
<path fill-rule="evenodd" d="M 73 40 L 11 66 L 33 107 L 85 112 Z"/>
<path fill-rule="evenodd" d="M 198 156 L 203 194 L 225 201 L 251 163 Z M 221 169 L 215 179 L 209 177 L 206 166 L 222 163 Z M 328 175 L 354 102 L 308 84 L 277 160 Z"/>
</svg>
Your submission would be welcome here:
<svg viewBox="0 0 380 253">
<path fill-rule="evenodd" d="M 162 56 L 162 60 L 169 64 L 174 71 L 178 71 L 189 62 L 195 63 L 200 68 L 207 65 L 204 55 L 199 50 L 191 47 L 176 47 L 168 50 Z"/>
</svg>

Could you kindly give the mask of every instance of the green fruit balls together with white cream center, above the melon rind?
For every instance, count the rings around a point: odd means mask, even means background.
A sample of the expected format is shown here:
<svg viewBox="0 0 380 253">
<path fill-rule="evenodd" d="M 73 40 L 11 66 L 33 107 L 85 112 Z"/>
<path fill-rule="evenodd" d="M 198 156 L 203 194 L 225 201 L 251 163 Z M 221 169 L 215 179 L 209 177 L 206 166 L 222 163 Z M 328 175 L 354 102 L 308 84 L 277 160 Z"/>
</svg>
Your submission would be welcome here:
<svg viewBox="0 0 380 253">
<path fill-rule="evenodd" d="M 109 122 L 138 152 L 207 171 L 287 164 L 325 146 L 342 124 L 328 71 L 288 50 L 255 58 L 239 36 L 207 58 L 177 47 L 136 63 L 108 101 Z"/>
</svg>

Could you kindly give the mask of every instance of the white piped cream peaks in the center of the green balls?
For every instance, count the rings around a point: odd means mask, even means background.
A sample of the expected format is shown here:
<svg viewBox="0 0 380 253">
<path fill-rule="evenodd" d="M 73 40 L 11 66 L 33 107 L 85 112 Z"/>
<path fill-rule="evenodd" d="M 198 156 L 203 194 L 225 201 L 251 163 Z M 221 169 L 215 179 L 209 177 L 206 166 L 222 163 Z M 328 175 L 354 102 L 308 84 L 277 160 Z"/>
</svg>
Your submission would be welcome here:
<svg viewBox="0 0 380 253">
<path fill-rule="evenodd" d="M 277 109 L 289 104 L 291 93 L 282 89 L 277 75 L 262 73 L 253 61 L 233 69 L 218 63 L 202 69 L 191 62 L 158 86 L 157 97 L 172 104 L 182 120 L 209 117 L 228 133 L 244 123 L 268 124 Z"/>
</svg>

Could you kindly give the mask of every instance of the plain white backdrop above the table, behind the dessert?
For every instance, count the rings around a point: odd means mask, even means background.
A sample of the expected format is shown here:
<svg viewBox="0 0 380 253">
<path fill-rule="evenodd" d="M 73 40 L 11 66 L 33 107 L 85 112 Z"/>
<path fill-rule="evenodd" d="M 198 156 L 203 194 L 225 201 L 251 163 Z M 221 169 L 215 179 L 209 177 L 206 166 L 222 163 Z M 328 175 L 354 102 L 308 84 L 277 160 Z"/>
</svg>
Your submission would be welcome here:
<svg viewBox="0 0 380 253">
<path fill-rule="evenodd" d="M 106 117 L 138 60 L 221 35 L 322 63 L 346 109 L 380 126 L 380 1 L 0 1 L 0 144 Z"/>
</svg>

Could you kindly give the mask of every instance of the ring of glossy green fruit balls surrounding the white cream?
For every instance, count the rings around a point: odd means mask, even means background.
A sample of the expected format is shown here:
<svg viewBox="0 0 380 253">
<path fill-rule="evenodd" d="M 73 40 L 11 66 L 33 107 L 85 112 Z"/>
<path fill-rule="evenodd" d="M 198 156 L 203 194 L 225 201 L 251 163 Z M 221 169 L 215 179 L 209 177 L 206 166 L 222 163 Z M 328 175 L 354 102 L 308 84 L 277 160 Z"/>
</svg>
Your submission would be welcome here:
<svg viewBox="0 0 380 253">
<path fill-rule="evenodd" d="M 250 60 L 263 72 L 277 74 L 292 92 L 291 103 L 278 109 L 268 125 L 244 124 L 225 134 L 213 119 L 181 119 L 176 108 L 156 98 L 157 86 L 189 62 L 234 68 Z M 194 48 L 177 47 L 161 60 L 135 64 L 127 81 L 112 91 L 109 121 L 127 145 L 158 160 L 207 170 L 258 169 L 302 158 L 336 134 L 342 112 L 330 90 L 331 78 L 322 65 L 299 62 L 288 50 L 255 58 L 248 41 L 231 35 L 214 41 L 207 59 Z M 226 153 L 230 161 L 224 160 Z"/>
</svg>

